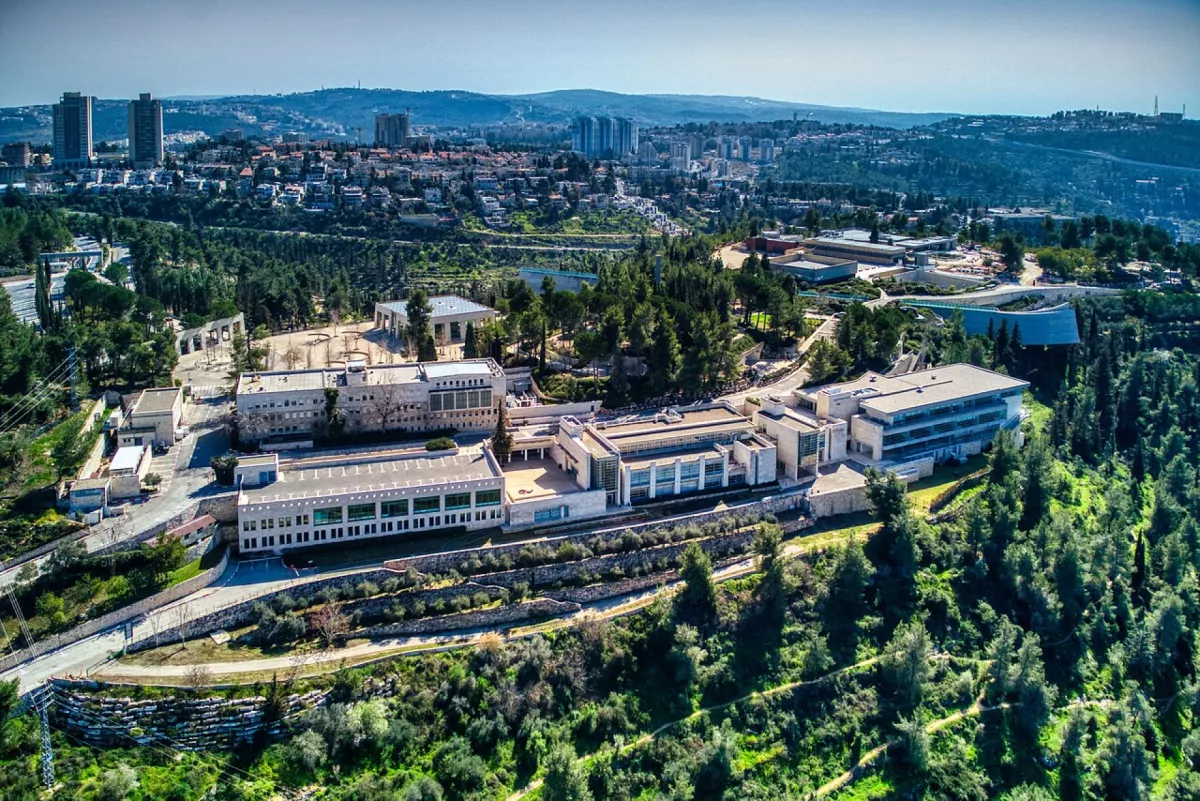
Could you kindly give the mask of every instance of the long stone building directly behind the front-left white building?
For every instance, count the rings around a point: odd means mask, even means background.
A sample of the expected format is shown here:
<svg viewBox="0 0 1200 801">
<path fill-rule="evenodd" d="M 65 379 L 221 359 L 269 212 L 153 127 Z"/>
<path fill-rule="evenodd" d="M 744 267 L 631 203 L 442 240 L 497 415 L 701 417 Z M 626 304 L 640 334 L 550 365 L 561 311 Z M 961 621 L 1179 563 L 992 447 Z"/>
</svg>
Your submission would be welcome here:
<svg viewBox="0 0 1200 801">
<path fill-rule="evenodd" d="M 329 430 L 331 411 L 348 434 L 491 430 L 504 393 L 504 371 L 491 359 L 242 373 L 238 434 L 299 447 Z"/>
</svg>

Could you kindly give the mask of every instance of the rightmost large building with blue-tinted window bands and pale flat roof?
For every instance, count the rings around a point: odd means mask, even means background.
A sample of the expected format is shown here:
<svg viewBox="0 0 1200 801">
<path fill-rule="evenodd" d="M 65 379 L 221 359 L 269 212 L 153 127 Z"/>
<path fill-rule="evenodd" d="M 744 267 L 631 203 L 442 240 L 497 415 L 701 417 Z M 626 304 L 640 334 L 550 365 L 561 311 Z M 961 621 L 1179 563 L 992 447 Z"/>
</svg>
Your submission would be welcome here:
<svg viewBox="0 0 1200 801">
<path fill-rule="evenodd" d="M 871 462 L 935 463 L 982 451 L 1001 429 L 1020 436 L 1028 381 L 973 365 L 904 375 L 866 373 L 854 381 L 798 390 L 802 410 L 848 423 L 846 452 Z"/>
</svg>

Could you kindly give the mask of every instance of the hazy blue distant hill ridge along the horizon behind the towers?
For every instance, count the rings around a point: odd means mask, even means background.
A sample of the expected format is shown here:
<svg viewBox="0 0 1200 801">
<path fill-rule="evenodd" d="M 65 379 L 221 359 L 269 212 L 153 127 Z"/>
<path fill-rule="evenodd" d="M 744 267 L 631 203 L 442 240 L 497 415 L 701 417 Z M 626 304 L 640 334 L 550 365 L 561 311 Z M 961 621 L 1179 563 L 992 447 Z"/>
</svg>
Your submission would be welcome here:
<svg viewBox="0 0 1200 801">
<path fill-rule="evenodd" d="M 124 139 L 125 100 L 97 100 L 92 130 L 97 141 Z M 240 125 L 247 133 L 305 131 L 348 137 L 361 127 L 374 131 L 374 115 L 413 109 L 413 122 L 440 128 L 493 124 L 544 122 L 565 125 L 576 114 L 630 116 L 643 126 L 684 122 L 754 122 L 791 118 L 821 122 L 880 125 L 908 128 L 938 122 L 950 114 L 906 114 L 859 108 L 811 106 L 721 95 L 622 95 L 594 89 L 566 89 L 534 95 L 481 95 L 469 91 L 406 91 L 401 89 L 323 89 L 293 95 L 234 95 L 227 97 L 168 97 L 163 127 L 204 131 L 216 135 Z M 49 141 L 50 106 L 0 109 L 0 140 Z"/>
</svg>

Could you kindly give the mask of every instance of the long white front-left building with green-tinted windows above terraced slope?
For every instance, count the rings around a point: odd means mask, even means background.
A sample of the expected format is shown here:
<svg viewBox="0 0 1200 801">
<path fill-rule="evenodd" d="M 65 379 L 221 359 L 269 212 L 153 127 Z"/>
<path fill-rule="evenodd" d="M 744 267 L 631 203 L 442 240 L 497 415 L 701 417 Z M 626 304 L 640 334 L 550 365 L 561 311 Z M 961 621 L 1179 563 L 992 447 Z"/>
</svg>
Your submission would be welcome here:
<svg viewBox="0 0 1200 801">
<path fill-rule="evenodd" d="M 486 447 L 319 456 L 281 468 L 238 493 L 242 553 L 504 524 L 504 474 Z"/>
</svg>

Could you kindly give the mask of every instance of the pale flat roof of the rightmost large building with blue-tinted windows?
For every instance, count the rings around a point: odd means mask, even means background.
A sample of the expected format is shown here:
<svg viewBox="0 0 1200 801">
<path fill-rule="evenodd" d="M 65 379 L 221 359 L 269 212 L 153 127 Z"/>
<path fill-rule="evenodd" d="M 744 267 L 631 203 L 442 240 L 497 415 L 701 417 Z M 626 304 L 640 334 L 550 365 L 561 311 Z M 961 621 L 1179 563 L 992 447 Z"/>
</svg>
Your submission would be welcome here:
<svg viewBox="0 0 1200 801">
<path fill-rule="evenodd" d="M 851 392 L 863 406 L 890 415 L 958 398 L 1024 390 L 1030 385 L 974 365 L 943 365 L 905 375 L 866 373 L 846 384 L 821 387 L 818 392 Z"/>
</svg>

